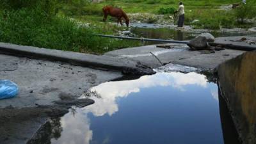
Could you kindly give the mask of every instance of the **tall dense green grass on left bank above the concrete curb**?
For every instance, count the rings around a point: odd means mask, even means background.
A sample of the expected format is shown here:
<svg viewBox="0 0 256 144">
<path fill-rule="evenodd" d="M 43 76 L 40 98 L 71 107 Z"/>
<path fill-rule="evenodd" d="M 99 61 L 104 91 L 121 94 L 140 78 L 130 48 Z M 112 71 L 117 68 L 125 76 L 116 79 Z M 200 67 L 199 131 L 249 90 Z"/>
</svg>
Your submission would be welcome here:
<svg viewBox="0 0 256 144">
<path fill-rule="evenodd" d="M 56 15 L 57 1 L 1 1 L 0 41 L 64 51 L 104 52 L 140 45 L 139 42 L 99 38 L 95 33 L 113 34 L 120 28 L 97 24 L 84 26 L 63 15 Z M 49 7 L 49 6 L 52 6 Z"/>
</svg>

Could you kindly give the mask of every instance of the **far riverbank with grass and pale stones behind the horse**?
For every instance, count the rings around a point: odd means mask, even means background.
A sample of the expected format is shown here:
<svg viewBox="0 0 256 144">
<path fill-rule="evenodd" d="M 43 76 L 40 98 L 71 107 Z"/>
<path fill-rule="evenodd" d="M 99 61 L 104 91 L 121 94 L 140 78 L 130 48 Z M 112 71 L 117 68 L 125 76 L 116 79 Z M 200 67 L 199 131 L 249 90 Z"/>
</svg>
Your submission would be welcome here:
<svg viewBox="0 0 256 144">
<path fill-rule="evenodd" d="M 183 1 L 185 5 L 187 26 L 195 29 L 221 29 L 221 28 L 250 28 L 255 26 L 255 11 L 253 4 L 240 5 L 232 9 L 237 1 Z M 250 3 L 250 2 L 248 2 Z M 253 3 L 253 2 L 252 2 Z M 148 24 L 173 24 L 177 21 L 173 12 L 177 9 L 179 1 L 99 1 L 98 3 L 64 4 L 60 13 L 86 22 L 102 21 L 102 7 L 112 5 L 122 8 L 131 22 Z M 75 7 L 76 5 L 76 7 Z M 248 7 L 252 6 L 252 7 Z M 244 8 L 243 8 L 244 7 Z M 240 19 L 244 19 L 240 22 Z M 109 21 L 116 21 L 109 18 Z"/>
</svg>

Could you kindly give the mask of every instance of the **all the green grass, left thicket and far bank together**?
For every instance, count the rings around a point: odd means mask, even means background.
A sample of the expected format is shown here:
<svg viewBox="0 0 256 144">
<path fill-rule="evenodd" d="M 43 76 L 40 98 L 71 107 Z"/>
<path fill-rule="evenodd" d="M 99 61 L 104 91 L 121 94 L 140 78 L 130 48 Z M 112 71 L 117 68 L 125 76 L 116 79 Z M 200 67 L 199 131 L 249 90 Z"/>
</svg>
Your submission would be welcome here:
<svg viewBox="0 0 256 144">
<path fill-rule="evenodd" d="M 193 23 L 195 28 L 250 27 L 253 24 L 244 24 L 244 17 L 255 17 L 256 0 L 250 1 L 252 4 L 246 5 L 248 7 L 226 12 L 219 10 L 219 7 L 223 4 L 237 3 L 237 0 L 184 0 L 186 24 L 191 25 L 193 20 L 198 19 L 199 22 Z M 127 13 L 163 13 L 165 19 L 168 19 L 168 15 L 173 13 L 173 8 L 178 7 L 179 0 L 106 0 L 102 3 L 88 3 L 84 0 L 0 2 L 1 42 L 103 54 L 115 49 L 140 45 L 140 42 L 136 41 L 100 38 L 93 35 L 115 35 L 118 31 L 126 29 L 103 23 L 103 6 L 120 7 Z M 115 21 L 113 18 L 110 20 Z M 90 26 L 83 25 L 86 23 L 90 23 Z"/>
</svg>

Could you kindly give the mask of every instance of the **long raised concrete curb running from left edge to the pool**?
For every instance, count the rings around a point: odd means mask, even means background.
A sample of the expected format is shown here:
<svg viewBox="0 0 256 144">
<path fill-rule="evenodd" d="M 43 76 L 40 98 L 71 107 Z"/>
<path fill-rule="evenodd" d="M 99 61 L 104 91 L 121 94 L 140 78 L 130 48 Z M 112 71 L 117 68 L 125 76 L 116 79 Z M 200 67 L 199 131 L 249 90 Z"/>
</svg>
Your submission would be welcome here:
<svg viewBox="0 0 256 144">
<path fill-rule="evenodd" d="M 153 74 L 154 72 L 151 68 L 152 72 L 144 73 L 143 70 L 141 70 L 141 67 L 138 67 L 138 61 L 134 61 L 128 58 L 113 58 L 111 56 L 104 55 L 97 56 L 94 54 L 84 54 L 80 52 L 7 44 L 3 42 L 0 42 L 0 54 L 8 54 L 12 56 L 49 61 L 61 61 L 70 63 L 71 65 L 79 65 L 81 67 L 104 68 L 106 70 L 115 70 L 121 72 L 125 71 L 124 74 L 134 74 L 134 72 L 136 72 L 140 75 L 144 75 Z"/>
</svg>

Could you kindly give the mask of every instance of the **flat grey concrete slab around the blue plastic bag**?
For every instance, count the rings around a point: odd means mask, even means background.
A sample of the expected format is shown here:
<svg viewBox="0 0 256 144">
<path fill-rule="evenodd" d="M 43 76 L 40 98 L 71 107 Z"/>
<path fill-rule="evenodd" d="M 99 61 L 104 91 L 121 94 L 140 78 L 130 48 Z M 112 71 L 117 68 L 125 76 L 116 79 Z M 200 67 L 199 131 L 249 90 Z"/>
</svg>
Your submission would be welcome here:
<svg viewBox="0 0 256 144">
<path fill-rule="evenodd" d="M 0 60 L 1 79 L 10 79 L 20 88 L 17 97 L 0 100 L 0 108 L 51 105 L 52 101 L 60 100 L 63 93 L 76 98 L 92 86 L 122 76 L 120 72 L 4 54 L 0 54 Z"/>
</svg>

